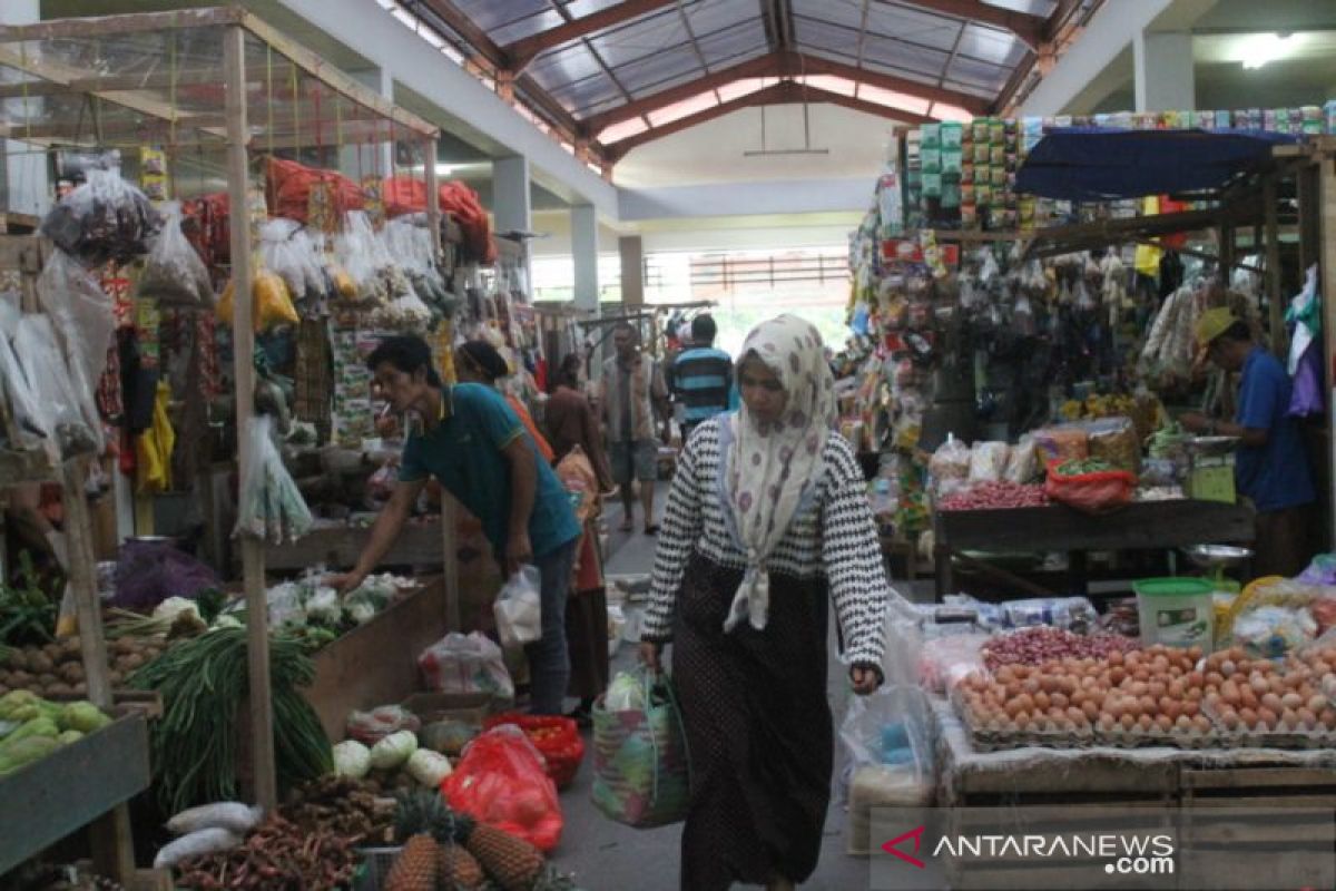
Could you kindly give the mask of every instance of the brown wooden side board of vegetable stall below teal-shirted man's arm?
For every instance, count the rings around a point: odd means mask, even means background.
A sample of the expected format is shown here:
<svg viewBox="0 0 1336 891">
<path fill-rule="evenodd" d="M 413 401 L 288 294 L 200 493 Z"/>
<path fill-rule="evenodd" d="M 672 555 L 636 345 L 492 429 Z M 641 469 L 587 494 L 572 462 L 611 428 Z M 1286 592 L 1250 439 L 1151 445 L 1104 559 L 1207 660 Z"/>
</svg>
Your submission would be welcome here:
<svg viewBox="0 0 1336 891">
<path fill-rule="evenodd" d="M 349 712 L 398 703 L 421 687 L 417 659 L 445 637 L 446 600 L 445 580 L 425 578 L 418 590 L 315 653 L 315 681 L 305 695 L 330 739 L 343 739 Z"/>
</svg>

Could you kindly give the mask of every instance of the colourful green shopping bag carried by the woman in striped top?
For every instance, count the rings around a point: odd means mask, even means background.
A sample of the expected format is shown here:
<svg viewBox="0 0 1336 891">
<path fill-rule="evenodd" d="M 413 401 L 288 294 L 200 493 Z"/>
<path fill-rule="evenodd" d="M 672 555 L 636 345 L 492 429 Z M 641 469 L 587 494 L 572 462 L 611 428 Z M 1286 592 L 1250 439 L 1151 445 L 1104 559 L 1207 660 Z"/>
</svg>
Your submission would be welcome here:
<svg viewBox="0 0 1336 891">
<path fill-rule="evenodd" d="M 643 692 L 639 708 L 611 709 L 608 697 L 593 705 L 595 806 L 640 830 L 684 820 L 691 757 L 671 679 L 640 668 L 613 684 L 636 684 Z"/>
</svg>

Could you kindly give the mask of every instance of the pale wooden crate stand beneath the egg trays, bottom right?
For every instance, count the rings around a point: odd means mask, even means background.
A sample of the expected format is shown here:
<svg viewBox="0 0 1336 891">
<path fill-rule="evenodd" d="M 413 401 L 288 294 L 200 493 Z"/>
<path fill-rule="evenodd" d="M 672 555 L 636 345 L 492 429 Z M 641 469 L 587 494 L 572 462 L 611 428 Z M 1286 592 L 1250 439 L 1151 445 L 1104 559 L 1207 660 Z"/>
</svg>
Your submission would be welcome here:
<svg viewBox="0 0 1336 891">
<path fill-rule="evenodd" d="M 1228 883 L 1206 887 L 1264 887 L 1263 876 L 1275 868 L 1265 859 L 1268 844 L 1325 839 L 1329 850 L 1333 839 L 1336 751 L 1329 748 L 979 752 L 946 699 L 934 697 L 933 711 L 941 731 L 938 804 L 949 808 L 951 831 L 997 832 L 1006 823 L 1021 834 L 1061 822 L 1063 834 L 1100 834 L 1114 831 L 1110 827 L 1120 818 L 1141 815 L 1134 819 L 1158 822 L 1174 832 L 1178 879 L 1197 880 L 1204 870 L 1230 876 Z M 1320 826 L 1312 819 L 1315 808 L 1325 810 Z M 1313 871 L 1308 887 L 1331 887 L 1332 866 L 1324 860 L 1331 858 L 1313 856 L 1305 864 Z M 1104 871 L 1104 862 L 1079 858 L 1053 858 L 1038 866 L 1034 859 L 990 859 L 985 875 L 982 863 L 949 859 L 946 870 L 957 883 L 981 888 L 1077 887 L 1089 883 L 1093 866 Z M 1295 887 L 1300 884 L 1305 883 Z M 1180 886 L 1169 879 L 1156 887 Z"/>
</svg>

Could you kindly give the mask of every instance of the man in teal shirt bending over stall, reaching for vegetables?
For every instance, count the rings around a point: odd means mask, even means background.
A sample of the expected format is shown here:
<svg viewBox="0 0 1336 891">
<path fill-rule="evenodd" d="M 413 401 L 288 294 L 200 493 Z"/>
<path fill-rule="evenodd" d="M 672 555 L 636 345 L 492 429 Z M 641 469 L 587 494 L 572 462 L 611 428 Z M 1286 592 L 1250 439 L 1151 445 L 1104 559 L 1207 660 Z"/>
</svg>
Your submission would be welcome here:
<svg viewBox="0 0 1336 891">
<path fill-rule="evenodd" d="M 432 350 L 418 337 L 391 337 L 367 367 L 391 409 L 415 415 L 399 481 L 357 562 L 343 577 L 355 588 L 379 564 L 407 521 L 428 477 L 482 522 L 506 574 L 533 564 L 542 576 L 542 639 L 525 648 L 533 711 L 561 715 L 570 665 L 565 609 L 580 524 L 552 468 L 538 458 L 520 418 L 493 390 L 477 383 L 442 386 Z"/>
</svg>

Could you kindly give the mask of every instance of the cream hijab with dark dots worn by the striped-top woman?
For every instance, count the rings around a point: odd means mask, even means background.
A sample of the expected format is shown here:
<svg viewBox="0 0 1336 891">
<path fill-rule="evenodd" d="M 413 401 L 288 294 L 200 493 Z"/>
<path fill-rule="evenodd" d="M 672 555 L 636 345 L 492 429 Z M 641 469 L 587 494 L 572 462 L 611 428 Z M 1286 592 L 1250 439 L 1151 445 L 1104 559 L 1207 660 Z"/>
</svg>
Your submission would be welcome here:
<svg viewBox="0 0 1336 891">
<path fill-rule="evenodd" d="M 788 401 L 774 423 L 762 423 L 747 405 L 731 415 L 732 442 L 724 457 L 724 497 L 747 574 L 733 596 L 724 631 L 747 618 L 766 627 L 770 572 L 766 561 L 798 513 L 803 493 L 822 476 L 826 437 L 835 425 L 835 378 L 822 337 L 810 322 L 780 315 L 762 322 L 743 343 L 739 369 L 751 358 L 766 363 Z"/>
</svg>

